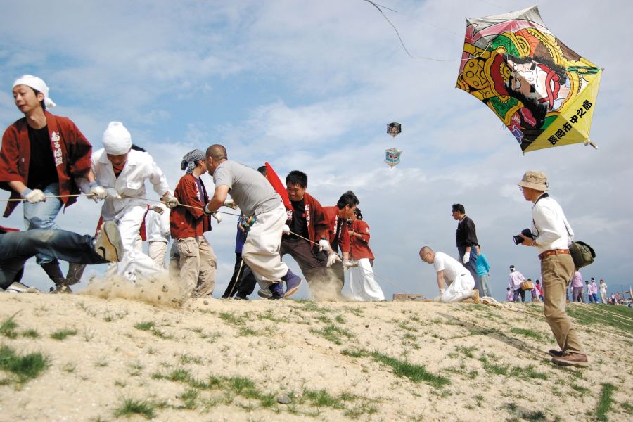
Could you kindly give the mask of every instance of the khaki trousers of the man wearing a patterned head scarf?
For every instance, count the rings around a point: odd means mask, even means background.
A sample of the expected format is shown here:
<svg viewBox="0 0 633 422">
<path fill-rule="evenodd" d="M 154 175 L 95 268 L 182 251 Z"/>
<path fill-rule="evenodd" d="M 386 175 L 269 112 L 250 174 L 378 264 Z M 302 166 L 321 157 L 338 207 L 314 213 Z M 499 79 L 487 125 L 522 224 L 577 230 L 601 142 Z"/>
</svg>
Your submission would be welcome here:
<svg viewBox="0 0 633 422">
<path fill-rule="evenodd" d="M 180 283 L 184 295 L 211 295 L 215 288 L 217 258 L 204 236 L 177 239 L 180 255 Z"/>
</svg>

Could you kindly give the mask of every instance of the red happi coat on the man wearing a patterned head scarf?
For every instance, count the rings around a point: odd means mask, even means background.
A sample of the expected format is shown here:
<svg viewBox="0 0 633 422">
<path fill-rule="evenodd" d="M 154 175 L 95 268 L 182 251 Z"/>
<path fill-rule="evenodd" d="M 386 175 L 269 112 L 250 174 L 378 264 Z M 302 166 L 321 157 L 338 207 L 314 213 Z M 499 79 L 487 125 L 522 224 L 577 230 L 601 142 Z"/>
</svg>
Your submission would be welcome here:
<svg viewBox="0 0 633 422">
<path fill-rule="evenodd" d="M 180 178 L 174 190 L 178 202 L 192 207 L 175 207 L 170 212 L 170 231 L 172 238 L 203 236 L 205 231 L 211 230 L 210 216 L 205 215 L 202 208 L 209 202 L 205 184 L 200 180 L 203 191 L 198 188 L 198 181 L 193 174 L 185 174 Z"/>
</svg>

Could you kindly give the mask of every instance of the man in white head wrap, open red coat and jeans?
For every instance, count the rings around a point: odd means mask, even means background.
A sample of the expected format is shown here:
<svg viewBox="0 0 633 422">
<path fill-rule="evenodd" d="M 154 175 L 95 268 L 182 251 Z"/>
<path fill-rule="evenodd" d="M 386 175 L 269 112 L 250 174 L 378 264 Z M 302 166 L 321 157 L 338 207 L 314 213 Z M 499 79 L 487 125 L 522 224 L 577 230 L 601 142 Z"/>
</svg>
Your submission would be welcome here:
<svg viewBox="0 0 633 422">
<path fill-rule="evenodd" d="M 26 229 L 60 229 L 54 222 L 62 206 L 77 202 L 78 178 L 89 181 L 94 198 L 105 198 L 90 168 L 92 146 L 67 117 L 52 115 L 55 106 L 43 80 L 24 75 L 13 82 L 13 99 L 24 117 L 9 126 L 0 148 L 0 188 L 11 191 L 11 199 L 23 199 Z M 6 205 L 4 217 L 18 201 Z M 82 266 L 70 265 L 65 278 L 59 262 L 38 254 L 37 263 L 53 280 L 58 291 L 79 281 Z M 72 274 L 72 276 L 71 276 Z"/>
</svg>

